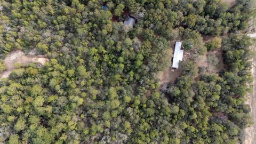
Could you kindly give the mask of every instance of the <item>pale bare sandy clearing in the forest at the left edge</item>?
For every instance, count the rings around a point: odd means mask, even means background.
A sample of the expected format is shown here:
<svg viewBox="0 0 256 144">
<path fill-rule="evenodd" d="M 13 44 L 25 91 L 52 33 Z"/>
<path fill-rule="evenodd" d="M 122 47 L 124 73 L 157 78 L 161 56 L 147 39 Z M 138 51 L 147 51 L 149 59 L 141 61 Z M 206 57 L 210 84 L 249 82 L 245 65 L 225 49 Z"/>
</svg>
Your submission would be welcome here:
<svg viewBox="0 0 256 144">
<path fill-rule="evenodd" d="M 43 55 L 34 55 L 34 52 L 29 53 L 29 55 L 25 55 L 25 53 L 20 50 L 14 50 L 4 59 L 4 65 L 7 70 L 0 74 L 0 79 L 9 77 L 15 69 L 15 63 L 25 65 L 31 62 L 37 62 L 41 65 L 45 65 L 47 61 L 49 61 L 49 59 L 43 58 Z"/>
</svg>

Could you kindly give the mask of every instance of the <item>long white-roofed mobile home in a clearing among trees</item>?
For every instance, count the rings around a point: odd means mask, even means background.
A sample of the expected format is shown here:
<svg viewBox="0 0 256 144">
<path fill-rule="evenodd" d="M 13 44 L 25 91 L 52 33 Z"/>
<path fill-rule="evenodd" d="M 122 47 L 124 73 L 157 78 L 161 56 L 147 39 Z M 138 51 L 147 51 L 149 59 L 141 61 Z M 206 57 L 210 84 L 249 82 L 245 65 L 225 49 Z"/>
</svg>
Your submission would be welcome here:
<svg viewBox="0 0 256 144">
<path fill-rule="evenodd" d="M 181 44 L 182 44 L 181 42 L 175 43 L 172 68 L 179 68 L 179 62 L 183 60 L 184 51 L 181 50 Z"/>
</svg>

